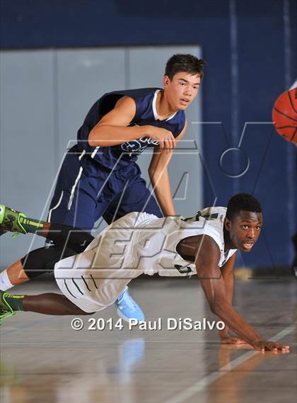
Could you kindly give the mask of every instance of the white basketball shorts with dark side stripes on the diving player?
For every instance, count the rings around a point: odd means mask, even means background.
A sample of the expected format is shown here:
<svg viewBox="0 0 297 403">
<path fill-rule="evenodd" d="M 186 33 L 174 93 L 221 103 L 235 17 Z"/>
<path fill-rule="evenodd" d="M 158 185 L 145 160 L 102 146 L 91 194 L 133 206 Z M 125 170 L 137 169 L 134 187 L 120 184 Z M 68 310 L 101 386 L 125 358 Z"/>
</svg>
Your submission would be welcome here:
<svg viewBox="0 0 297 403">
<path fill-rule="evenodd" d="M 62 293 L 84 312 L 115 302 L 129 281 L 144 273 L 135 263 L 135 233 L 152 220 L 158 217 L 130 212 L 100 232 L 81 254 L 57 262 L 54 277 Z"/>
</svg>

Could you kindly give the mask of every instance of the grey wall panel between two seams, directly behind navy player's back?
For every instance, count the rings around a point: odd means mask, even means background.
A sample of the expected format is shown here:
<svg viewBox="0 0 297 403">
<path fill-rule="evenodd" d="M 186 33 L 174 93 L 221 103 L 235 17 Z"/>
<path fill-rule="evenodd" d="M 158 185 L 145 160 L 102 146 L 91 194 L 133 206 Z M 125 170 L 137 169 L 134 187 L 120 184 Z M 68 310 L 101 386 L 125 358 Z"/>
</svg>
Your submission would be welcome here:
<svg viewBox="0 0 297 403">
<path fill-rule="evenodd" d="M 124 86 L 123 48 L 57 51 L 59 161 L 69 141 L 76 142 L 76 132 L 93 103 L 103 93 Z"/>
</svg>

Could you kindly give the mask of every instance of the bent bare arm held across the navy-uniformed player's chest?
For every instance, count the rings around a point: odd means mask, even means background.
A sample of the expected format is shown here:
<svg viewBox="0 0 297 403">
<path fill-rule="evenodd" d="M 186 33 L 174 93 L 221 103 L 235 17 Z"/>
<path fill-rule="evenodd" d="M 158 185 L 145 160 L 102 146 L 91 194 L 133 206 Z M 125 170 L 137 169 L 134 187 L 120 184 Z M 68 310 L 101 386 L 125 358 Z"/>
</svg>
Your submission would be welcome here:
<svg viewBox="0 0 297 403">
<path fill-rule="evenodd" d="M 129 126 L 136 113 L 134 99 L 124 96 L 117 101 L 115 108 L 103 116 L 88 136 L 91 147 L 110 147 L 129 140 L 151 137 L 160 143 L 161 148 L 174 148 L 175 139 L 169 130 L 151 125 Z"/>
</svg>

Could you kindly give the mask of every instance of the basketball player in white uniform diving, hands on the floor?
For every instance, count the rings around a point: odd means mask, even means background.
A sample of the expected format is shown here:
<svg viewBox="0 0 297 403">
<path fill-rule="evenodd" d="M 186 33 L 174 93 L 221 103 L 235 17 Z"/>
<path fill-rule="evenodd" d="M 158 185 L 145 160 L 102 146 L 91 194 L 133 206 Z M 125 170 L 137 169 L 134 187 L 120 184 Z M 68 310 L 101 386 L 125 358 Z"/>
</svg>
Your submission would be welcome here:
<svg viewBox="0 0 297 403">
<path fill-rule="evenodd" d="M 24 217 L 20 220 L 28 231 L 28 225 L 36 222 Z M 233 196 L 227 208 L 206 208 L 195 217 L 158 218 L 131 212 L 88 242 L 80 254 L 74 249 L 80 249 L 82 241 L 86 244 L 84 232 L 47 222 L 38 222 L 37 227 L 43 237 L 52 238 L 57 245 L 60 242 L 64 249 L 66 242 L 69 248 L 68 257 L 54 262 L 54 276 L 63 295 L 1 292 L 0 322 L 17 310 L 92 314 L 112 305 L 127 284 L 143 273 L 197 274 L 211 311 L 226 324 L 220 332 L 222 343 L 246 342 L 262 351 L 289 350 L 289 346 L 261 339 L 232 306 L 235 252 L 251 251 L 262 228 L 261 205 L 248 193 Z M 86 236 L 90 240 L 91 235 Z M 239 337 L 230 336 L 229 329 Z"/>
</svg>

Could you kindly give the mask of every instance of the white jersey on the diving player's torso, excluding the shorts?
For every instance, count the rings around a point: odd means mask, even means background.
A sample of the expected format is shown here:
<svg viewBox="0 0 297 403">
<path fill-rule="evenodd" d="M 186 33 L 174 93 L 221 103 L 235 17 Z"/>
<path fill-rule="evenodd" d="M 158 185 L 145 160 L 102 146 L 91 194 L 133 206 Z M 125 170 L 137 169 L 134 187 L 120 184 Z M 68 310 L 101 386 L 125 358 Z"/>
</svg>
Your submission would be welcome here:
<svg viewBox="0 0 297 403">
<path fill-rule="evenodd" d="M 177 244 L 187 237 L 208 235 L 219 246 L 223 266 L 235 253 L 231 249 L 225 254 L 223 221 L 226 208 L 204 208 L 194 217 L 164 217 L 144 224 L 134 235 L 137 266 L 145 274 L 160 276 L 191 276 L 196 272 L 194 263 L 185 261 L 176 251 Z"/>
</svg>

